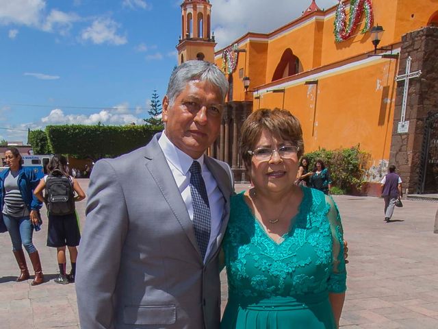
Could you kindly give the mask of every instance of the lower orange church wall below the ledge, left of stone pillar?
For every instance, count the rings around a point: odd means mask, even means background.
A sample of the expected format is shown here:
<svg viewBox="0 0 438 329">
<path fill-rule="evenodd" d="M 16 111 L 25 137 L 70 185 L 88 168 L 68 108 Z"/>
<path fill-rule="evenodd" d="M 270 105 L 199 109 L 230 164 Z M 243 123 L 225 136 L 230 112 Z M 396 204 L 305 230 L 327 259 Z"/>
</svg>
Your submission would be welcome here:
<svg viewBox="0 0 438 329">
<path fill-rule="evenodd" d="M 316 86 L 302 82 L 287 87 L 284 107 L 300 119 L 306 151 L 360 144 L 375 162 L 389 158 L 395 70 L 396 60 L 378 60 L 358 69 L 320 77 L 314 128 Z M 261 108 L 281 108 L 282 103 L 283 93 L 263 93 L 260 99 Z M 254 104 L 257 108 L 257 99 Z"/>
</svg>

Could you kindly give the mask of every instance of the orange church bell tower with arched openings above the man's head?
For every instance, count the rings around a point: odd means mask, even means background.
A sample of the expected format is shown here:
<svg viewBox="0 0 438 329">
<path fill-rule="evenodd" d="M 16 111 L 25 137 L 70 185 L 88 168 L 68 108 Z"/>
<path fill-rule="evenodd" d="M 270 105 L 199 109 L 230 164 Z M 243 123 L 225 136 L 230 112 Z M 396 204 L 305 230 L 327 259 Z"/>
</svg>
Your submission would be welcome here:
<svg viewBox="0 0 438 329">
<path fill-rule="evenodd" d="M 181 4 L 181 36 L 177 45 L 178 64 L 188 60 L 214 62 L 209 0 L 184 0 Z"/>
</svg>

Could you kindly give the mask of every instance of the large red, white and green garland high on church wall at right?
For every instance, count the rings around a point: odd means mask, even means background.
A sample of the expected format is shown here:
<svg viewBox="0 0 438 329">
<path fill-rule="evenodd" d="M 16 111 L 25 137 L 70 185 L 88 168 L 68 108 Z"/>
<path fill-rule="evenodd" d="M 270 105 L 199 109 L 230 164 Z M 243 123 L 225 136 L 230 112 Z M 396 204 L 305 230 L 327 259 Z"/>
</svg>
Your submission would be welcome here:
<svg viewBox="0 0 438 329">
<path fill-rule="evenodd" d="M 364 34 L 371 29 L 373 23 L 371 0 L 350 0 L 348 24 L 344 1 L 339 0 L 334 23 L 336 42 L 345 41 L 352 36 L 357 29 L 357 25 L 359 25 L 359 22 L 361 21 L 362 14 L 365 14 L 365 26 L 361 30 L 361 34 Z"/>
</svg>

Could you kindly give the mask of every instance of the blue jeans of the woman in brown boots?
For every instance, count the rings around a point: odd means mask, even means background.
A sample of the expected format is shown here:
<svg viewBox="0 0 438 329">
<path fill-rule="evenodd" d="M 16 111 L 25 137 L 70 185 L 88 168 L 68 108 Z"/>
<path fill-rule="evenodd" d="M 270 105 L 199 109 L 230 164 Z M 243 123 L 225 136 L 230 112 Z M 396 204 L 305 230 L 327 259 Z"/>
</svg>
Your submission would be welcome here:
<svg viewBox="0 0 438 329">
<path fill-rule="evenodd" d="M 30 217 L 13 217 L 3 214 L 3 221 L 8 228 L 9 235 L 12 241 L 12 250 L 17 251 L 23 249 L 21 244 L 25 246 L 28 254 L 36 252 L 32 236 L 34 235 L 34 226 L 30 221 Z"/>
</svg>

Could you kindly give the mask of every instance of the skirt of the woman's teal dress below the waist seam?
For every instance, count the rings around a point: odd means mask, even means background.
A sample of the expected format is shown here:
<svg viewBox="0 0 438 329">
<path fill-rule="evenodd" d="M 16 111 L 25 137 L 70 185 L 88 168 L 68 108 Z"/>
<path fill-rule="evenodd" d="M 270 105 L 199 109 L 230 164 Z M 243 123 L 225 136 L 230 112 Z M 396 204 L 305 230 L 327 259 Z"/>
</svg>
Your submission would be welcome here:
<svg viewBox="0 0 438 329">
<path fill-rule="evenodd" d="M 229 298 L 222 329 L 336 329 L 328 293 L 265 300 Z"/>
</svg>

